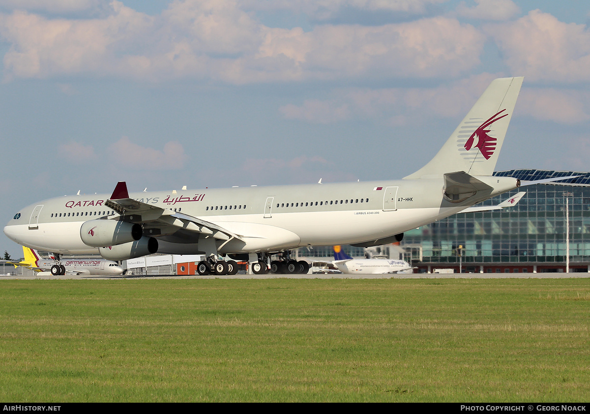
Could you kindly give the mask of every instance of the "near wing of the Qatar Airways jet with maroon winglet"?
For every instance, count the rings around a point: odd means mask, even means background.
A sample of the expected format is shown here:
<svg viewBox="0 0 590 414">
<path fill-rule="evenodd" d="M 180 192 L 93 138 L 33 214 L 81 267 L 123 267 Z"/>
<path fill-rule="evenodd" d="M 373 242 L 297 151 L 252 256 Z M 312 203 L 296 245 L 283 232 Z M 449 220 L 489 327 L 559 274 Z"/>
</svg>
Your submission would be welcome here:
<svg viewBox="0 0 590 414">
<path fill-rule="evenodd" d="M 117 183 L 113 195 L 109 200 L 104 202 L 104 205 L 112 208 L 120 215 L 126 216 L 130 222 L 143 223 L 144 234 L 147 236 L 158 237 L 170 235 L 179 229 L 185 229 L 195 233 L 212 235 L 215 239 L 219 240 L 242 240 L 237 234 L 217 224 L 133 200 L 129 198 L 127 184 L 124 181 Z"/>
</svg>

